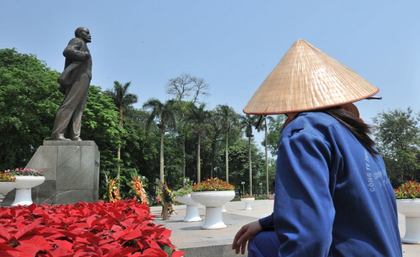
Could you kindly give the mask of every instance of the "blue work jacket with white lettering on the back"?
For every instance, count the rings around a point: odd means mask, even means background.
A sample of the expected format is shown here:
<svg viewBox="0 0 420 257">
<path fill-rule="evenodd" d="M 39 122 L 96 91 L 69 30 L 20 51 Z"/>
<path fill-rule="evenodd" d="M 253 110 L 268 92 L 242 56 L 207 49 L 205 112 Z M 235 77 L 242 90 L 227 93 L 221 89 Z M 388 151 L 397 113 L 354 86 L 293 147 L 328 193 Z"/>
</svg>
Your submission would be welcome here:
<svg viewBox="0 0 420 257">
<path fill-rule="evenodd" d="M 373 157 L 323 112 L 296 116 L 278 145 L 272 215 L 278 256 L 402 256 L 394 189 Z"/>
</svg>

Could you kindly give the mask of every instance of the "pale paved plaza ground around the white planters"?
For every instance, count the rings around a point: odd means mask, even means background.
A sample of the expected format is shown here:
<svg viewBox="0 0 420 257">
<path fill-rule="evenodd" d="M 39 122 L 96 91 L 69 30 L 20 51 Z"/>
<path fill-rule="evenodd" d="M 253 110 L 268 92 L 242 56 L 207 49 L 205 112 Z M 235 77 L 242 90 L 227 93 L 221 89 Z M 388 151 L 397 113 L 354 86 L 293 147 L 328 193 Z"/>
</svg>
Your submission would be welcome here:
<svg viewBox="0 0 420 257">
<path fill-rule="evenodd" d="M 183 222 L 185 218 L 186 205 L 175 207 L 177 214 L 173 214 L 170 220 L 162 220 L 161 207 L 151 207 L 155 217 L 155 224 L 163 224 L 167 229 L 172 230 L 171 242 L 179 250 L 185 251 L 184 257 L 231 257 L 247 256 L 236 255 L 232 250 L 232 241 L 236 232 L 246 223 L 270 215 L 273 210 L 274 201 L 258 200 L 251 204 L 252 210 L 244 210 L 245 203 L 229 202 L 226 204 L 226 212 L 222 213 L 223 222 L 228 226 L 226 229 L 202 230 L 204 224 L 206 207 L 199 205 L 202 221 Z M 401 237 L 405 234 L 404 215 L 398 214 Z M 402 243 L 403 257 L 420 256 L 420 244 Z"/>
</svg>

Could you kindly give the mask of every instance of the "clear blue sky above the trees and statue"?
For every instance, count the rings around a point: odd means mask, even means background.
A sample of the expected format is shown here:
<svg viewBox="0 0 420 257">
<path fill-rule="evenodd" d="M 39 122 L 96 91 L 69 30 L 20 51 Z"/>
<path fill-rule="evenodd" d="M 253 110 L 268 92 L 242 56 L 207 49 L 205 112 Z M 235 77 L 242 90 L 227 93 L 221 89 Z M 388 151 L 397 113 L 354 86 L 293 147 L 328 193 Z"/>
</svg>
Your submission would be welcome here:
<svg viewBox="0 0 420 257">
<path fill-rule="evenodd" d="M 0 0 L 0 48 L 33 53 L 62 72 L 74 30 L 92 34 L 92 85 L 131 81 L 138 104 L 167 99 L 183 72 L 210 84 L 209 108 L 242 113 L 297 39 L 304 39 L 380 88 L 379 111 L 420 110 L 420 1 L 14 1 Z M 257 136 L 258 138 L 262 138 Z"/>
</svg>

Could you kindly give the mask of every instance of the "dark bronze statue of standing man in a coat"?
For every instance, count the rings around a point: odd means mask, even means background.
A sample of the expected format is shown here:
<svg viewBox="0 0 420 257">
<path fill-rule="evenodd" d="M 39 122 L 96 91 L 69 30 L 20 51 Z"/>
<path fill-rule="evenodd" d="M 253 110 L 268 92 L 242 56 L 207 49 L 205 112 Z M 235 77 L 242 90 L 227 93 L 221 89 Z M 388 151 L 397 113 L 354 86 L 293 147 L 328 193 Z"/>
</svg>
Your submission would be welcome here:
<svg viewBox="0 0 420 257">
<path fill-rule="evenodd" d="M 81 117 L 92 79 L 92 58 L 87 45 L 92 37 L 86 27 L 77 28 L 74 36 L 63 51 L 66 62 L 58 82 L 65 97 L 55 116 L 51 140 L 81 141 Z M 64 137 L 65 132 L 68 138 Z"/>
</svg>

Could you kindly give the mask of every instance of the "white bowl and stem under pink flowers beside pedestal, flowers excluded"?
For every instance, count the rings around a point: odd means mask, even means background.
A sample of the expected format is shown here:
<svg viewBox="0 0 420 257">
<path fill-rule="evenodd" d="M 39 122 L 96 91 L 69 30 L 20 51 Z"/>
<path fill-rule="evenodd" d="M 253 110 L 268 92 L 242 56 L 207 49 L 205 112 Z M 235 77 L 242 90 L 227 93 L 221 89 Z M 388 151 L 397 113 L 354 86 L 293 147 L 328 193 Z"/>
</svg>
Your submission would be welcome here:
<svg viewBox="0 0 420 257">
<path fill-rule="evenodd" d="M 15 176 L 16 178 L 16 196 L 12 206 L 31 205 L 32 202 L 32 187 L 44 183 L 44 176 Z"/>
</svg>

